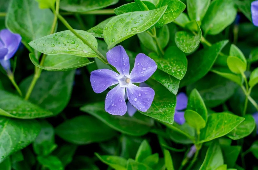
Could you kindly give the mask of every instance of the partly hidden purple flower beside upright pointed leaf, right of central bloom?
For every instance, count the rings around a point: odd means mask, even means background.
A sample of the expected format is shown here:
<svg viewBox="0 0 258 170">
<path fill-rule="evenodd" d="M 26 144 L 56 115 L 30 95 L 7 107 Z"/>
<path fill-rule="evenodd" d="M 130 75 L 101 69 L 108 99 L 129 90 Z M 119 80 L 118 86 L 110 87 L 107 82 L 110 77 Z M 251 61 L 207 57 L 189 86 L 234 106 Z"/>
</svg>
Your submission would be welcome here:
<svg viewBox="0 0 258 170">
<path fill-rule="evenodd" d="M 181 92 L 176 96 L 176 108 L 174 120 L 179 125 L 184 124 L 186 120 L 184 119 L 184 109 L 187 107 L 188 98 L 185 93 Z"/>
</svg>

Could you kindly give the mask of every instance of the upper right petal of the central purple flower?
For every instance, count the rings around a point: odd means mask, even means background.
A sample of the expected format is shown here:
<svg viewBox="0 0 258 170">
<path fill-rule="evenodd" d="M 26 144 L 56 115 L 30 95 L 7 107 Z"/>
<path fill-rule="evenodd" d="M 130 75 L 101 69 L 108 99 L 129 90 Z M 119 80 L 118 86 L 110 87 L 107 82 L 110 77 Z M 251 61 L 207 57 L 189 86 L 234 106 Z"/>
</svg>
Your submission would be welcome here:
<svg viewBox="0 0 258 170">
<path fill-rule="evenodd" d="M 154 60 L 145 54 L 138 54 L 135 58 L 134 68 L 130 74 L 131 82 L 141 83 L 150 78 L 157 70 L 157 65 Z"/>
</svg>

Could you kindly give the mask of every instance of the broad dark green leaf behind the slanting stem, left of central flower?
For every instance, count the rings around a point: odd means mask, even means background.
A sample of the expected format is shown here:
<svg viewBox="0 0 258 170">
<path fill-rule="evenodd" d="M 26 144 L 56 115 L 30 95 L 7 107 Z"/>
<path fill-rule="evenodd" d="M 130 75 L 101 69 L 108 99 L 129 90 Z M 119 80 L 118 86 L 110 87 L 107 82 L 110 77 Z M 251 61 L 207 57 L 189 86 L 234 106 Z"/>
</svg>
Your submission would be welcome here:
<svg viewBox="0 0 258 170">
<path fill-rule="evenodd" d="M 65 72 L 43 71 L 32 90 L 29 101 L 52 111 L 54 115 L 59 114 L 70 100 L 74 75 L 75 70 Z M 21 82 L 20 88 L 23 93 L 27 91 L 32 79 L 33 76 L 31 75 Z"/>
</svg>

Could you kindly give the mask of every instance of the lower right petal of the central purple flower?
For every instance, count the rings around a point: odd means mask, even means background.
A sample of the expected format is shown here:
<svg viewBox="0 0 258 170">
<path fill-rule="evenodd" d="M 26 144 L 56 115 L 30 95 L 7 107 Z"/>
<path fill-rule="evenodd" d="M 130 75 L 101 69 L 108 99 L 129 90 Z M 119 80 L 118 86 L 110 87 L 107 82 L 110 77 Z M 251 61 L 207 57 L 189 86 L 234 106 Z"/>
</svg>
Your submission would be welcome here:
<svg viewBox="0 0 258 170">
<path fill-rule="evenodd" d="M 151 106 L 155 92 L 150 87 L 138 87 L 130 83 L 126 88 L 126 94 L 136 109 L 146 112 Z"/>
</svg>

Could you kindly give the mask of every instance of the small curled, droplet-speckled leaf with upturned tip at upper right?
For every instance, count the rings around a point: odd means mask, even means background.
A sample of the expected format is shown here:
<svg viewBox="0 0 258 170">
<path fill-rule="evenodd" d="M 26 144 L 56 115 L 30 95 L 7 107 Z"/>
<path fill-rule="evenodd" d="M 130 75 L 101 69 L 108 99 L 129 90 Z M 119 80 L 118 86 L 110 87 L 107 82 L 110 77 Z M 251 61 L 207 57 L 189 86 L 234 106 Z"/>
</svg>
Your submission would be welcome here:
<svg viewBox="0 0 258 170">
<path fill-rule="evenodd" d="M 191 31 L 179 31 L 175 34 L 176 45 L 185 53 L 193 52 L 201 41 L 201 29 L 196 21 L 194 21 L 194 24 L 197 25 L 197 34 L 193 34 Z"/>
</svg>

